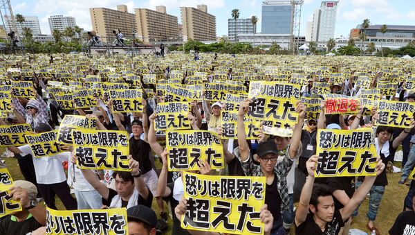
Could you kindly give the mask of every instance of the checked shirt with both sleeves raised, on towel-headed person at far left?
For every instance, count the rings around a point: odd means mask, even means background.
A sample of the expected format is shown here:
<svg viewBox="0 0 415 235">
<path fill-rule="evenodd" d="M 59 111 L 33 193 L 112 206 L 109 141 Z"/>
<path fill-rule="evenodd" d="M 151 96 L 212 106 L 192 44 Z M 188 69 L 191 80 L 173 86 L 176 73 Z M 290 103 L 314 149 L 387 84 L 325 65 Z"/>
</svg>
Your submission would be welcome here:
<svg viewBox="0 0 415 235">
<path fill-rule="evenodd" d="M 12 103 L 15 105 L 15 109 L 26 119 L 26 123 L 30 124 L 32 128 L 35 128 L 37 123 L 49 122 L 48 105 L 46 105 L 43 98 L 39 95 L 36 96 L 36 101 L 39 103 L 39 110 L 37 110 L 35 116 L 30 116 L 17 98 L 12 98 Z"/>
</svg>

